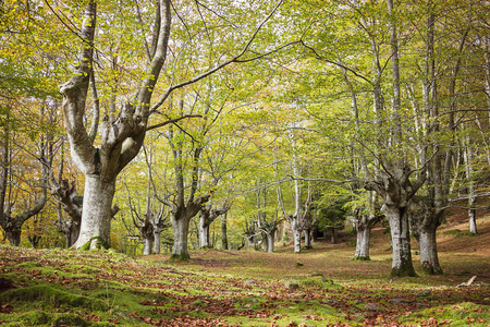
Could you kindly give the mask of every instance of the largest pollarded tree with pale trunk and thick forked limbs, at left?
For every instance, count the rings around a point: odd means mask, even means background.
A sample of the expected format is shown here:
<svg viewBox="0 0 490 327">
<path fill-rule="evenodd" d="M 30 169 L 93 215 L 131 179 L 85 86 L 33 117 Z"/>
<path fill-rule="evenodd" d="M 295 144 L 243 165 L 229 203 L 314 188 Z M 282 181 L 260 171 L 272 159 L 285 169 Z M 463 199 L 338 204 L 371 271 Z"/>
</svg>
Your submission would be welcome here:
<svg viewBox="0 0 490 327">
<path fill-rule="evenodd" d="M 84 210 L 82 215 L 81 233 L 75 243 L 75 247 L 77 249 L 87 242 L 91 242 L 90 247 L 97 246 L 99 242 L 109 243 L 110 211 L 115 192 L 115 180 L 121 170 L 124 169 L 124 167 L 126 167 L 126 165 L 138 154 L 145 140 L 146 132 L 149 129 L 148 119 L 150 114 L 157 112 L 158 108 L 167 100 L 168 96 L 174 89 L 196 83 L 231 63 L 254 60 L 254 58 L 250 57 L 246 58 L 245 55 L 249 53 L 250 45 L 257 37 L 258 32 L 279 7 L 273 8 L 262 22 L 255 25 L 255 29 L 252 28 L 252 36 L 244 43 L 242 49 L 235 52 L 236 55 L 228 57 L 225 60 L 222 60 L 220 55 L 215 56 L 213 58 L 219 59 L 217 59 L 217 63 L 212 68 L 187 81 L 173 84 L 174 80 L 172 77 L 171 86 L 169 86 L 161 94 L 160 98 L 151 105 L 152 95 L 157 93 L 157 88 L 160 87 L 158 82 L 161 70 L 167 61 L 172 23 L 171 1 L 156 1 L 152 32 L 149 33 L 151 40 L 147 44 L 145 36 L 145 40 L 142 43 L 142 49 L 146 49 L 148 62 L 143 78 L 142 81 L 135 81 L 133 77 L 133 81 L 126 81 L 125 84 L 121 83 L 121 85 L 124 85 L 125 87 L 130 87 L 132 83 L 135 83 L 138 86 L 133 89 L 134 93 L 128 95 L 123 101 L 117 117 L 107 117 L 99 128 L 99 98 L 95 78 L 95 68 L 98 66 L 98 64 L 94 61 L 95 49 L 101 51 L 101 48 L 96 46 L 95 39 L 95 36 L 98 35 L 98 33 L 96 33 L 97 4 L 98 1 L 90 0 L 85 9 L 84 23 L 79 33 L 79 38 L 83 41 L 76 59 L 76 68 L 70 81 L 60 86 L 60 92 L 63 95 L 64 125 L 69 136 L 72 158 L 85 175 Z M 115 3 L 105 4 L 107 4 L 108 8 L 111 4 L 118 5 Z M 125 5 L 127 5 L 126 8 L 132 13 L 130 16 L 142 16 L 142 11 L 139 11 L 142 4 L 136 5 L 130 1 L 130 3 Z M 200 11 L 200 4 L 196 3 L 196 5 L 198 7 L 198 11 Z M 149 12 L 150 4 L 145 3 L 145 12 Z M 109 16 L 111 16 L 111 14 L 106 17 Z M 198 14 L 194 16 L 199 17 Z M 145 23 L 142 22 L 140 26 L 137 27 L 138 35 L 140 34 L 144 24 Z M 145 31 L 145 28 L 143 28 L 143 31 Z M 124 32 L 125 36 L 130 34 L 131 33 L 127 31 Z M 172 41 L 172 46 L 179 48 L 180 46 L 185 46 L 185 44 L 175 39 Z M 224 52 L 230 53 L 229 49 L 225 49 Z M 255 58 L 261 58 L 264 56 L 265 55 L 258 55 L 255 56 Z M 97 57 L 100 58 L 99 56 Z M 174 76 L 173 73 L 172 76 Z M 87 131 L 85 118 L 89 88 L 91 88 L 94 99 L 94 114 L 91 126 Z M 97 132 L 99 132 L 100 140 L 96 143 Z M 175 211 L 175 215 L 180 214 L 181 210 Z M 182 255 L 185 256 L 185 253 L 182 253 Z"/>
</svg>

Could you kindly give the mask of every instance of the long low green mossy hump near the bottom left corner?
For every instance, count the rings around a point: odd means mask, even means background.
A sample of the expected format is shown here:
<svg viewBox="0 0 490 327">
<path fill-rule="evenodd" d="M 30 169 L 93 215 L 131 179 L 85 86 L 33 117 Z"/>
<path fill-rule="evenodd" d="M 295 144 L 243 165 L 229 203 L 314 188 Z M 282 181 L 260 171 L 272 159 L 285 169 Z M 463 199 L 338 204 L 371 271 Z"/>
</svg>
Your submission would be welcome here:
<svg viewBox="0 0 490 327">
<path fill-rule="evenodd" d="M 76 295 L 47 286 L 34 286 L 24 289 L 13 289 L 0 294 L 0 301 L 42 301 L 50 306 L 69 305 L 85 307 L 93 311 L 107 311 L 109 305 L 100 300 Z"/>
</svg>

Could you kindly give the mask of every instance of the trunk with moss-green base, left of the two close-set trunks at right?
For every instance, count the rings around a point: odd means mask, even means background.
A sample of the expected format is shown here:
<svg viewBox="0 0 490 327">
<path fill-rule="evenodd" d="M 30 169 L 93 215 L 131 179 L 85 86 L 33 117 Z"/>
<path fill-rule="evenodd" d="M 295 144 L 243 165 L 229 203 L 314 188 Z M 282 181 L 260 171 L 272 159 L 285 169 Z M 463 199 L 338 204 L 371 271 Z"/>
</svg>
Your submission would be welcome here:
<svg viewBox="0 0 490 327">
<path fill-rule="evenodd" d="M 408 216 L 405 215 L 406 208 L 385 205 L 384 214 L 390 222 L 393 246 L 393 262 L 390 276 L 417 276 L 412 263 L 411 233 L 408 228 Z"/>
</svg>

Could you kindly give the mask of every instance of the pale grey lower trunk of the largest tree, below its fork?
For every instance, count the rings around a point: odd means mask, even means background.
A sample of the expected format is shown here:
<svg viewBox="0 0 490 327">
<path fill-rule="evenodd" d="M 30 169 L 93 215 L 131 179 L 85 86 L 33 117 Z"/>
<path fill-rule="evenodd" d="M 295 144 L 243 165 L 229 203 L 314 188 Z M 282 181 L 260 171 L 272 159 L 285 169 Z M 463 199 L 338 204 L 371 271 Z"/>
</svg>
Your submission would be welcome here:
<svg viewBox="0 0 490 327">
<path fill-rule="evenodd" d="M 85 175 L 82 223 L 75 249 L 81 249 L 88 242 L 89 249 L 110 246 L 114 186 L 115 179 L 102 181 L 98 174 Z"/>
</svg>

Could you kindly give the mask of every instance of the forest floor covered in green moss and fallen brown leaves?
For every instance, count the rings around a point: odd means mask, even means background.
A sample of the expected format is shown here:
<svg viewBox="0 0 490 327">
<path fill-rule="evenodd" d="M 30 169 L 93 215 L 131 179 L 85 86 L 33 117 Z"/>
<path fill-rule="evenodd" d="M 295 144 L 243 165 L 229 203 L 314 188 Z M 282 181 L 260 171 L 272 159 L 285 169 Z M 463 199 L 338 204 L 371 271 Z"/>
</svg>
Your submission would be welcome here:
<svg viewBox="0 0 490 327">
<path fill-rule="evenodd" d="M 469 237 L 455 211 L 438 230 L 442 276 L 388 278 L 385 228 L 371 261 L 355 238 L 292 254 L 200 250 L 169 255 L 30 250 L 0 245 L 0 325 L 5 326 L 490 326 L 490 216 Z M 413 249 L 417 249 L 415 242 Z M 470 286 L 465 283 L 476 276 Z"/>
</svg>

